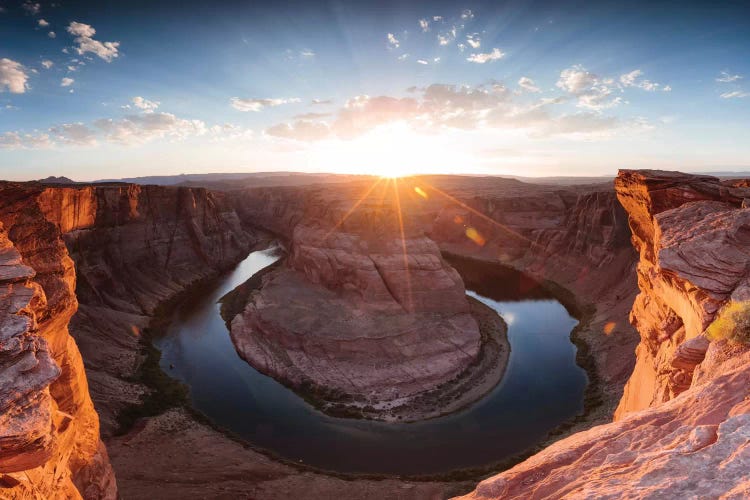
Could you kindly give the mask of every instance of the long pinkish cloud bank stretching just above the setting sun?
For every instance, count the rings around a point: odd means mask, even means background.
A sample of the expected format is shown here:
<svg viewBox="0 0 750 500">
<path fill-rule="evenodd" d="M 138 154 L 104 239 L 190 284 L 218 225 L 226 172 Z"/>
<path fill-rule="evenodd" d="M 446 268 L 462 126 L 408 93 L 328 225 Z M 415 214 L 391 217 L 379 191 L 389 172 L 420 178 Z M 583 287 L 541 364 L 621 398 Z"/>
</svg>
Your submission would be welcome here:
<svg viewBox="0 0 750 500">
<path fill-rule="evenodd" d="M 533 82 L 525 83 L 533 85 Z M 585 93 L 589 87 L 574 85 L 572 88 L 580 88 Z M 410 92 L 414 97 L 356 96 L 331 120 L 302 115 L 291 123 L 274 125 L 266 133 L 305 142 L 328 138 L 348 140 L 381 126 L 402 124 L 427 134 L 444 129 L 508 129 L 522 131 L 532 138 L 561 136 L 594 140 L 653 128 L 644 119 L 622 120 L 605 116 L 599 110 L 562 112 L 560 105 L 570 99 L 568 96 L 543 98 L 533 103 L 516 100 L 517 93 L 498 82 L 477 86 L 432 84 L 410 89 Z"/>
</svg>

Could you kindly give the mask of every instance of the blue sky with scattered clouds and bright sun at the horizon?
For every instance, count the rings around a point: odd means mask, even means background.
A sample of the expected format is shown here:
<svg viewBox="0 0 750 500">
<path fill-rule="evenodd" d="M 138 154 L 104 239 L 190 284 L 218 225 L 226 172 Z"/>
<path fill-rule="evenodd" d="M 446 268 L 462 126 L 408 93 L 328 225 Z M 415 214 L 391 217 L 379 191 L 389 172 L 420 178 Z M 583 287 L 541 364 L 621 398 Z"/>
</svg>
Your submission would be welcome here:
<svg viewBox="0 0 750 500">
<path fill-rule="evenodd" d="M 0 0 L 0 178 L 750 170 L 750 2 Z"/>
</svg>

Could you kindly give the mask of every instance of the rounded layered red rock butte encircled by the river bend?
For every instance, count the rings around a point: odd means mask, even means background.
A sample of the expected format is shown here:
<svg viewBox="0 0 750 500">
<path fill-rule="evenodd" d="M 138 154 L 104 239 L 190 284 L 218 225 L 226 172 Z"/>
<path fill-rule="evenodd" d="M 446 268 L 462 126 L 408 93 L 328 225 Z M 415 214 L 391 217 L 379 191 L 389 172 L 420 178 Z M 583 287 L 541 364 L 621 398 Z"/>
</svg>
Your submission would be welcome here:
<svg viewBox="0 0 750 500">
<path fill-rule="evenodd" d="M 286 229 L 286 266 L 264 278 L 232 338 L 293 387 L 385 410 L 460 375 L 479 353 L 479 329 L 461 277 L 411 215 L 399 220 L 390 190 L 351 211 L 357 198 L 333 193 L 308 195 Z"/>
</svg>

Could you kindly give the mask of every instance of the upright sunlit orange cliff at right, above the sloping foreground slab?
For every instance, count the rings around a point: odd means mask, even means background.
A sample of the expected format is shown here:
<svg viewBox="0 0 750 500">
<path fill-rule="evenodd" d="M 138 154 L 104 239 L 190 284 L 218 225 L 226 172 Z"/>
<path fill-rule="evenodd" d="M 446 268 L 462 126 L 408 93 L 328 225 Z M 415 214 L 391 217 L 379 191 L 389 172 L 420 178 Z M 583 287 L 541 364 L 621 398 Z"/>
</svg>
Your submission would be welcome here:
<svg viewBox="0 0 750 500">
<path fill-rule="evenodd" d="M 687 354 L 750 276 L 750 190 L 708 176 L 622 171 L 617 195 L 640 254 L 631 322 L 641 334 L 636 367 L 616 418 L 662 403 L 690 386 L 699 358 Z M 695 351 L 695 347 L 692 348 Z M 705 349 L 703 349 L 705 351 Z"/>
</svg>

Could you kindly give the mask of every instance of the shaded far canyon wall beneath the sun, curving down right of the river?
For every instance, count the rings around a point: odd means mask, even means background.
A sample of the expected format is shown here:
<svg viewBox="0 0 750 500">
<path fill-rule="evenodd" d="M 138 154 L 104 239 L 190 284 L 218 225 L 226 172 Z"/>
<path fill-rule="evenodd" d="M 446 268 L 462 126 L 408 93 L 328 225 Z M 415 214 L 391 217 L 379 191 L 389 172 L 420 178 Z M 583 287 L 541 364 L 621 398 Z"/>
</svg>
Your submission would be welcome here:
<svg viewBox="0 0 750 500">
<path fill-rule="evenodd" d="M 233 197 L 243 220 L 256 221 L 289 242 L 292 265 L 312 281 L 321 276 L 342 280 L 354 273 L 342 272 L 348 263 L 342 266 L 321 248 L 320 235 L 303 229 L 310 225 L 305 221 L 324 221 L 335 227 L 328 230 L 331 234 L 387 227 L 397 246 L 400 228 L 393 225 L 400 209 L 407 234 L 426 235 L 443 252 L 500 262 L 553 282 L 548 284 L 585 319 L 576 339 L 582 362 L 593 363 L 596 373 L 592 402 L 601 403 L 590 416 L 611 418 L 633 370 L 638 342 L 627 320 L 637 290 L 636 253 L 611 185 L 558 188 L 502 178 L 420 176 L 377 184 L 249 189 Z"/>
</svg>

